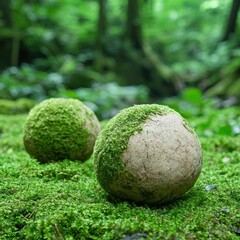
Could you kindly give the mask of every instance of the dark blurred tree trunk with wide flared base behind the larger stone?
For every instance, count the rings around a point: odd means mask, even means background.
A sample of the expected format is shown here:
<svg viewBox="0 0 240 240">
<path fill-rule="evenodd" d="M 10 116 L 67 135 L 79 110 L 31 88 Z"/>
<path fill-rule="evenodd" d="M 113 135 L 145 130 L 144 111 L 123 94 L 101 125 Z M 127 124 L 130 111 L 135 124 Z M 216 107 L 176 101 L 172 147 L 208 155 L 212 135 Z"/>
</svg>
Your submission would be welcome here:
<svg viewBox="0 0 240 240">
<path fill-rule="evenodd" d="M 116 72 L 125 84 L 146 85 L 153 97 L 175 93 L 169 80 L 171 72 L 159 60 L 151 47 L 144 43 L 140 16 L 140 1 L 128 0 L 127 21 Z"/>
</svg>

